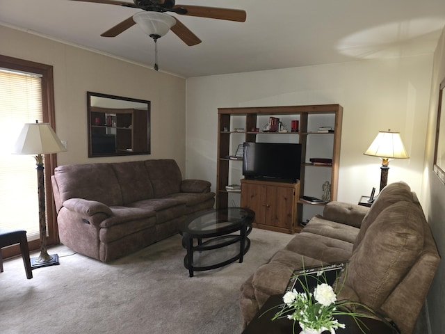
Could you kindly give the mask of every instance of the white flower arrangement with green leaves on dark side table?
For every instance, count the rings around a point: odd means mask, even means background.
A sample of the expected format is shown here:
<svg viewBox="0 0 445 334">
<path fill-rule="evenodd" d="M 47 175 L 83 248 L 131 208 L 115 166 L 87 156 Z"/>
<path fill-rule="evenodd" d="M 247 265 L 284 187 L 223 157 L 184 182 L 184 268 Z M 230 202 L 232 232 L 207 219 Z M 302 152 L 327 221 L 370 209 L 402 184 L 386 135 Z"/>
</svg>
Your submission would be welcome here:
<svg viewBox="0 0 445 334">
<path fill-rule="evenodd" d="M 286 292 L 283 296 L 284 306 L 279 310 L 272 320 L 278 319 L 279 317 L 286 316 L 288 319 L 293 320 L 293 334 L 295 334 L 295 324 L 298 321 L 300 328 L 302 328 L 302 333 L 322 333 L 323 331 L 330 331 L 331 334 L 335 334 L 337 328 L 345 328 L 344 324 L 340 324 L 337 319 L 334 318 L 335 315 L 349 315 L 353 317 L 359 328 L 364 333 L 362 326 L 362 321 L 357 319 L 358 317 L 369 317 L 369 315 L 362 315 L 357 312 L 353 312 L 346 308 L 347 305 L 362 306 L 366 310 L 372 313 L 372 310 L 363 305 L 362 303 L 357 303 L 353 301 L 338 301 L 337 294 L 334 288 L 326 283 L 326 277 L 316 278 L 316 287 L 312 291 L 309 288 L 307 274 L 303 270 L 303 274 L 298 276 L 293 273 L 293 278 L 300 283 L 302 290 L 298 292 L 297 289 L 293 288 Z M 337 276 L 337 273 L 336 273 Z M 344 282 L 343 282 L 344 283 Z M 337 285 L 338 286 L 338 285 Z M 341 285 L 343 287 L 343 285 Z M 340 287 L 340 290 L 341 290 Z"/>
</svg>

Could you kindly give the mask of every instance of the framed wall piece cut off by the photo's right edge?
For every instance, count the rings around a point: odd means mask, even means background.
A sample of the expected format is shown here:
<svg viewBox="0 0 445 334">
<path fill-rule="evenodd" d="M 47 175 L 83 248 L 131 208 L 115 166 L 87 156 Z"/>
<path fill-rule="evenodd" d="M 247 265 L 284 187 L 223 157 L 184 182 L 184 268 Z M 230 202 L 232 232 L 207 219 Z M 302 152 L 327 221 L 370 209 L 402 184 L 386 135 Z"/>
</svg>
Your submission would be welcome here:
<svg viewBox="0 0 445 334">
<path fill-rule="evenodd" d="M 434 151 L 434 171 L 445 184 L 445 79 L 439 87 L 439 102 L 437 104 L 436 144 Z M 443 117 L 441 117 L 443 116 Z"/>
</svg>

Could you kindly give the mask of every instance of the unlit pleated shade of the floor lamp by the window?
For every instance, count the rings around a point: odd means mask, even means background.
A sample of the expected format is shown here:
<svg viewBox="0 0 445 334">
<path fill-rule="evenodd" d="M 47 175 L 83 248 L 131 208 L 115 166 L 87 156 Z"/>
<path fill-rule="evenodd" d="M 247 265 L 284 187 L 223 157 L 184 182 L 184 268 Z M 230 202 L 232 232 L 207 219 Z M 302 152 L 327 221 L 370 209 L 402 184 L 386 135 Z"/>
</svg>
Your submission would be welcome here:
<svg viewBox="0 0 445 334">
<path fill-rule="evenodd" d="M 50 154 L 66 148 L 49 123 L 26 123 L 15 142 L 15 154 Z"/>
</svg>

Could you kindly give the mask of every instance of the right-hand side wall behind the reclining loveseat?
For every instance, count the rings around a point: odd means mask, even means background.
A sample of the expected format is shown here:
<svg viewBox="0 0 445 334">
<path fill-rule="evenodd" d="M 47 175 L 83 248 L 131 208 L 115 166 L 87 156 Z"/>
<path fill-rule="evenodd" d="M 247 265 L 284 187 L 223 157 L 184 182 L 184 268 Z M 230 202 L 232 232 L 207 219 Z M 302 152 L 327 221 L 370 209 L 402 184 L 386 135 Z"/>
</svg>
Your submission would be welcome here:
<svg viewBox="0 0 445 334">
<path fill-rule="evenodd" d="M 422 197 L 425 202 L 423 209 L 426 211 L 428 222 L 431 225 L 439 254 L 442 255 L 442 261 L 439 264 L 439 269 L 427 297 L 431 324 L 430 333 L 443 333 L 445 328 L 445 185 L 432 171 L 432 166 L 434 161 L 439 84 L 445 78 L 445 30 L 442 32 L 442 38 L 439 40 L 439 45 L 435 52 L 432 73 Z M 443 110 L 444 106 L 442 106 L 442 117 L 444 115 Z"/>
</svg>

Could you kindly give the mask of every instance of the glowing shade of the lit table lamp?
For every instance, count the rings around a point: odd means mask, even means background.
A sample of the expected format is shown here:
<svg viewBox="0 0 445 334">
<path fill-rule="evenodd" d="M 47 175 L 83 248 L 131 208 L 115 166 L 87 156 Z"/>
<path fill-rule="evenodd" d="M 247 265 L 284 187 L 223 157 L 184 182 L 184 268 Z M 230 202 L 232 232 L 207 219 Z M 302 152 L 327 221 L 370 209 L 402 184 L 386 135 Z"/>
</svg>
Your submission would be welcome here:
<svg viewBox="0 0 445 334">
<path fill-rule="evenodd" d="M 380 131 L 364 154 L 389 159 L 409 158 L 399 132 Z"/>
</svg>

